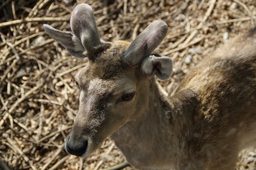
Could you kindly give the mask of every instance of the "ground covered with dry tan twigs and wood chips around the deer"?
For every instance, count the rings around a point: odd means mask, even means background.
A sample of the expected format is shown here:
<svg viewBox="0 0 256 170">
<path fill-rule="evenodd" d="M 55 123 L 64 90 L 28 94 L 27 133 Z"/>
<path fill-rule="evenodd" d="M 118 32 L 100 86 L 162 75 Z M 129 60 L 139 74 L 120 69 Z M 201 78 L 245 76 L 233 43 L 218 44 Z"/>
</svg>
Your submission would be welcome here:
<svg viewBox="0 0 256 170">
<path fill-rule="evenodd" d="M 78 3 L 92 6 L 106 41 L 133 40 L 154 20 L 165 21 L 168 34 L 155 52 L 174 60 L 172 78 L 160 81 L 173 95 L 191 67 L 256 21 L 256 0 L 0 2 L 0 158 L 14 170 L 97 170 L 124 161 L 109 139 L 84 159 L 64 150 L 78 109 L 72 79 L 87 59 L 70 56 L 42 24 L 70 31 L 70 13 Z M 255 152 L 243 150 L 236 170 L 256 169 Z"/>
</svg>

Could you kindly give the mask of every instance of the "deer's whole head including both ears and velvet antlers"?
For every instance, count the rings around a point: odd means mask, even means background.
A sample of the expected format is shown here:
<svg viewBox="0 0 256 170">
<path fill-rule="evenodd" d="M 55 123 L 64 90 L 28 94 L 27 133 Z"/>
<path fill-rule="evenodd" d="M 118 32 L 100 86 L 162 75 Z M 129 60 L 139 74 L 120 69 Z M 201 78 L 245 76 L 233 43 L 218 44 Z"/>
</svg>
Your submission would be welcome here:
<svg viewBox="0 0 256 170">
<path fill-rule="evenodd" d="M 162 21 L 150 24 L 132 43 L 100 40 L 87 4 L 76 6 L 70 25 L 72 32 L 46 24 L 44 29 L 70 54 L 89 58 L 89 64 L 75 77 L 80 89 L 79 111 L 65 143 L 68 153 L 84 157 L 122 125 L 136 119 L 148 103 L 149 80 L 153 75 L 168 79 L 173 61 L 150 55 L 167 33 Z"/>
</svg>

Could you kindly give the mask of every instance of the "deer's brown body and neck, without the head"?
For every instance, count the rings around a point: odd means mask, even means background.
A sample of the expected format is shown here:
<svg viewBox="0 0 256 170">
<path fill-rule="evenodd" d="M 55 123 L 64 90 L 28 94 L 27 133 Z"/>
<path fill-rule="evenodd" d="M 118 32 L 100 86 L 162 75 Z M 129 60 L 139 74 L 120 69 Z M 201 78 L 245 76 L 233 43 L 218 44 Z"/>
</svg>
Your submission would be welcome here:
<svg viewBox="0 0 256 170">
<path fill-rule="evenodd" d="M 127 160 L 140 169 L 234 169 L 238 152 L 256 144 L 255 40 L 251 31 L 215 51 L 173 97 L 152 79 L 141 117 L 111 136 Z"/>
</svg>

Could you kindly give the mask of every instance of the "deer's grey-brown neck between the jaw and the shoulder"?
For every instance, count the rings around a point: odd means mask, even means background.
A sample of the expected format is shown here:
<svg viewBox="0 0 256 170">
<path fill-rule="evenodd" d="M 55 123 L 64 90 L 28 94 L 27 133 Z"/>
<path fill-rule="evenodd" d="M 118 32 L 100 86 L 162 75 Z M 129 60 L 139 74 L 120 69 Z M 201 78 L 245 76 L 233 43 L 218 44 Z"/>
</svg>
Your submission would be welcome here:
<svg viewBox="0 0 256 170">
<path fill-rule="evenodd" d="M 140 162 L 140 169 L 144 169 L 144 165 L 148 168 L 150 164 L 159 168 L 165 160 L 170 164 L 170 155 L 175 155 L 172 153 L 172 148 L 175 148 L 172 144 L 176 142 L 171 141 L 176 131 L 172 126 L 175 120 L 172 118 L 172 107 L 158 89 L 155 80 L 150 82 L 148 94 L 148 102 L 136 113 L 139 116 L 111 136 L 130 164 L 136 166 Z"/>
</svg>

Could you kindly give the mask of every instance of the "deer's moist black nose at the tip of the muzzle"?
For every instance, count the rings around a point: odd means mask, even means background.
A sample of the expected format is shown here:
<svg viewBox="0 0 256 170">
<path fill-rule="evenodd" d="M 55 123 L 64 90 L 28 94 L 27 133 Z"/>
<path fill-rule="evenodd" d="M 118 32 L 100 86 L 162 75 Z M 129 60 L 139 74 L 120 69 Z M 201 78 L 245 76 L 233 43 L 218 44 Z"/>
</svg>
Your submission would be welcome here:
<svg viewBox="0 0 256 170">
<path fill-rule="evenodd" d="M 88 146 L 88 140 L 85 141 L 75 141 L 68 137 L 68 140 L 66 142 L 66 150 L 69 154 L 75 155 L 75 156 L 82 156 L 87 149 Z"/>
</svg>

